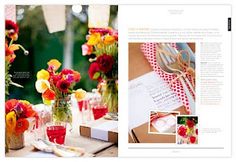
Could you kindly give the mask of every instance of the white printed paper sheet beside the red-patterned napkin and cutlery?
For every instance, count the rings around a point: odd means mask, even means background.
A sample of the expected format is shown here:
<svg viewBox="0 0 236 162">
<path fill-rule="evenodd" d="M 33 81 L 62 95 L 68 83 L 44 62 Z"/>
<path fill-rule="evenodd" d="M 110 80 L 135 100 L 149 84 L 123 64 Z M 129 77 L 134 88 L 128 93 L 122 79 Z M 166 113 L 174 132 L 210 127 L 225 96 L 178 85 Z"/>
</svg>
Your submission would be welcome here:
<svg viewBox="0 0 236 162">
<path fill-rule="evenodd" d="M 129 81 L 129 129 L 148 122 L 151 110 L 173 111 L 180 106 L 178 96 L 155 72 Z"/>
</svg>

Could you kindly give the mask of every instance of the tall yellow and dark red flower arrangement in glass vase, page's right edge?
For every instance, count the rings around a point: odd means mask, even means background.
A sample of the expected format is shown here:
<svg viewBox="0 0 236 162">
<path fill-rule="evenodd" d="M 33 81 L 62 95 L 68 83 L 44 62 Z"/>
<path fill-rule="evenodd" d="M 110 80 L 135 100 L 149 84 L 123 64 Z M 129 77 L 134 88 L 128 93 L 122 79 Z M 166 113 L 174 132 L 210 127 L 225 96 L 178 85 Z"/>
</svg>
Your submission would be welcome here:
<svg viewBox="0 0 236 162">
<path fill-rule="evenodd" d="M 91 62 L 89 77 L 99 82 L 102 101 L 110 113 L 118 112 L 118 32 L 112 28 L 91 28 L 82 54 Z"/>
</svg>

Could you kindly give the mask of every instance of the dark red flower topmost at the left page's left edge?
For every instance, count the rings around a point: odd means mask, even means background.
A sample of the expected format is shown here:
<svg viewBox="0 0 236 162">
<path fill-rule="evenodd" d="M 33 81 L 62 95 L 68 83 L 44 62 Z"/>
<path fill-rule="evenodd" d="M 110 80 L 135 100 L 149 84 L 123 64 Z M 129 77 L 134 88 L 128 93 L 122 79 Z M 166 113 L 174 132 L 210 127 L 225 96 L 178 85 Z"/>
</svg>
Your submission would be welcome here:
<svg viewBox="0 0 236 162">
<path fill-rule="evenodd" d="M 18 38 L 18 33 L 19 33 L 19 27 L 16 23 L 14 23 L 11 20 L 6 20 L 5 21 L 5 29 L 6 29 L 6 35 L 13 39 L 16 40 Z"/>
</svg>

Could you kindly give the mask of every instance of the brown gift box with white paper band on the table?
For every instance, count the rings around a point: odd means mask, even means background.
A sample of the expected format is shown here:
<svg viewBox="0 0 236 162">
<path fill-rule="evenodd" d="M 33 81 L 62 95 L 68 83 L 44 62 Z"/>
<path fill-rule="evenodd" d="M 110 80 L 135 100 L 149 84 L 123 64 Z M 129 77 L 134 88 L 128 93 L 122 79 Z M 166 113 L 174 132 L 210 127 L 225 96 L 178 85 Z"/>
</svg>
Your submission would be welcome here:
<svg viewBox="0 0 236 162">
<path fill-rule="evenodd" d="M 88 138 L 99 139 L 112 143 L 118 143 L 118 121 L 98 120 L 80 125 L 80 135 Z"/>
</svg>

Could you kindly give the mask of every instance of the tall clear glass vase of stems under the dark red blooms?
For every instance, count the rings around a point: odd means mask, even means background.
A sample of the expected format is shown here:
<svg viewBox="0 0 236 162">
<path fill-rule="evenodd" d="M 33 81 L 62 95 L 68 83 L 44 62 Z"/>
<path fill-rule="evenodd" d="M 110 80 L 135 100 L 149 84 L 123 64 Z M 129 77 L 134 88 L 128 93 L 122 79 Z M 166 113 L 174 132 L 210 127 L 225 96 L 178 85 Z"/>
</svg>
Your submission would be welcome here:
<svg viewBox="0 0 236 162">
<path fill-rule="evenodd" d="M 115 79 L 106 81 L 102 90 L 102 103 L 108 107 L 108 116 L 118 120 L 118 87 Z"/>
</svg>

